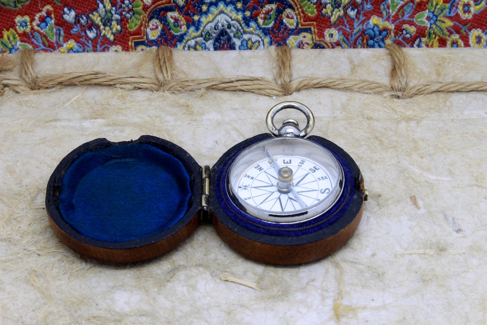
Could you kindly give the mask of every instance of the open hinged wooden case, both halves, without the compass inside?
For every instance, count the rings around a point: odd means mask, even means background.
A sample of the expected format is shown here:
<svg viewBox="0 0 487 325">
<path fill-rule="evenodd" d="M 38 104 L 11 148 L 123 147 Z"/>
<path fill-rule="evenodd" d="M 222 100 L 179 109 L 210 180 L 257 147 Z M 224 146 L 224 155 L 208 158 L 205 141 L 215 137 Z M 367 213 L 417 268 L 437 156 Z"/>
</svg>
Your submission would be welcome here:
<svg viewBox="0 0 487 325">
<path fill-rule="evenodd" d="M 90 141 L 69 153 L 49 179 L 49 222 L 75 252 L 115 263 L 142 261 L 175 248 L 196 229 L 202 208 L 225 243 L 247 258 L 286 265 L 327 256 L 352 237 L 360 222 L 361 173 L 337 145 L 310 136 L 340 161 L 348 179 L 346 191 L 311 224 L 291 230 L 259 224 L 232 202 L 225 184 L 236 156 L 270 137 L 260 134 L 237 144 L 211 172 L 182 148 L 154 136 Z"/>
</svg>

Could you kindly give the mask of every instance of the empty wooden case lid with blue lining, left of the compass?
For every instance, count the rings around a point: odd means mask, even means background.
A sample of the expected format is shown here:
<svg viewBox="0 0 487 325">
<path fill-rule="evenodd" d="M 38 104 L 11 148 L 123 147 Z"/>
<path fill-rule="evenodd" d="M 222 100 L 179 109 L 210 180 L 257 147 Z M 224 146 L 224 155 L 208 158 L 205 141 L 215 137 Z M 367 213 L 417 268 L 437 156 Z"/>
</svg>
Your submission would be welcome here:
<svg viewBox="0 0 487 325">
<path fill-rule="evenodd" d="M 127 263 L 181 244 L 198 225 L 201 192 L 201 167 L 175 144 L 149 135 L 96 139 L 59 163 L 46 209 L 68 247 Z"/>
</svg>

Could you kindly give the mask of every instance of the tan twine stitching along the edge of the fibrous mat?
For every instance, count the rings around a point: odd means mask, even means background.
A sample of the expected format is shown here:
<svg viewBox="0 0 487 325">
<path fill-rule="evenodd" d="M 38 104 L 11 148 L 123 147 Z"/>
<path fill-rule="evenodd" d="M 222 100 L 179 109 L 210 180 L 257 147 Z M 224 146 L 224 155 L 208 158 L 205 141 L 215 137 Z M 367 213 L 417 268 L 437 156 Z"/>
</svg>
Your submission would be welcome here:
<svg viewBox="0 0 487 325">
<path fill-rule="evenodd" d="M 4 88 L 24 93 L 36 89 L 70 85 L 122 86 L 153 91 L 184 92 L 204 89 L 221 91 L 244 91 L 265 96 L 288 96 L 309 88 L 331 88 L 396 98 L 411 98 L 438 92 L 487 92 L 487 82 L 430 82 L 408 87 L 406 57 L 403 49 L 396 44 L 388 44 L 386 49 L 392 59 L 391 84 L 386 85 L 371 80 L 355 80 L 331 77 L 300 77 L 292 79 L 291 49 L 287 46 L 275 48 L 274 60 L 277 65 L 275 80 L 264 77 L 234 76 L 223 78 L 185 79 L 174 78 L 175 64 L 173 49 L 159 47 L 154 53 L 155 78 L 140 75 L 118 75 L 107 72 L 71 72 L 37 76 L 34 71 L 35 50 L 20 51 L 19 76 L 0 74 L 0 96 Z M 13 60 L 0 56 L 0 73 L 11 71 Z"/>
</svg>

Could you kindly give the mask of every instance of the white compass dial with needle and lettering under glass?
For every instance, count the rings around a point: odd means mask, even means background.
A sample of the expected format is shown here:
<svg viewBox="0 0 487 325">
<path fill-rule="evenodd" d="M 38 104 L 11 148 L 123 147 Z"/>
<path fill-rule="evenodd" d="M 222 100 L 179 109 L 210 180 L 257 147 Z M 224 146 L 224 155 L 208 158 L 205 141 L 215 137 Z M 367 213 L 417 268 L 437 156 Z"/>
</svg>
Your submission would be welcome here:
<svg viewBox="0 0 487 325">
<path fill-rule="evenodd" d="M 335 157 L 301 138 L 273 138 L 242 152 L 230 171 L 230 190 L 247 213 L 294 223 L 328 210 L 341 193 Z"/>
</svg>

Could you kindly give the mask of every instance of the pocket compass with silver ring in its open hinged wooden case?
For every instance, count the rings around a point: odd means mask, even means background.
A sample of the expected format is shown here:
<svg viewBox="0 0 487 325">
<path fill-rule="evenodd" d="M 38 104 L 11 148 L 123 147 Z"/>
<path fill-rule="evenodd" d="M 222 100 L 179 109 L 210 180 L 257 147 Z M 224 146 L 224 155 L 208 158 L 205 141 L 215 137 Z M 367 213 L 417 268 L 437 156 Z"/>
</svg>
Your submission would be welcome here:
<svg viewBox="0 0 487 325">
<path fill-rule="evenodd" d="M 277 128 L 274 117 L 285 109 L 304 114 L 306 126 L 287 119 Z M 329 255 L 360 222 L 368 196 L 362 174 L 336 144 L 308 136 L 315 121 L 306 106 L 280 103 L 266 124 L 270 133 L 235 145 L 211 169 L 150 135 L 85 143 L 49 180 L 49 222 L 71 249 L 109 262 L 163 254 L 201 220 L 256 261 L 300 264 Z"/>
</svg>

